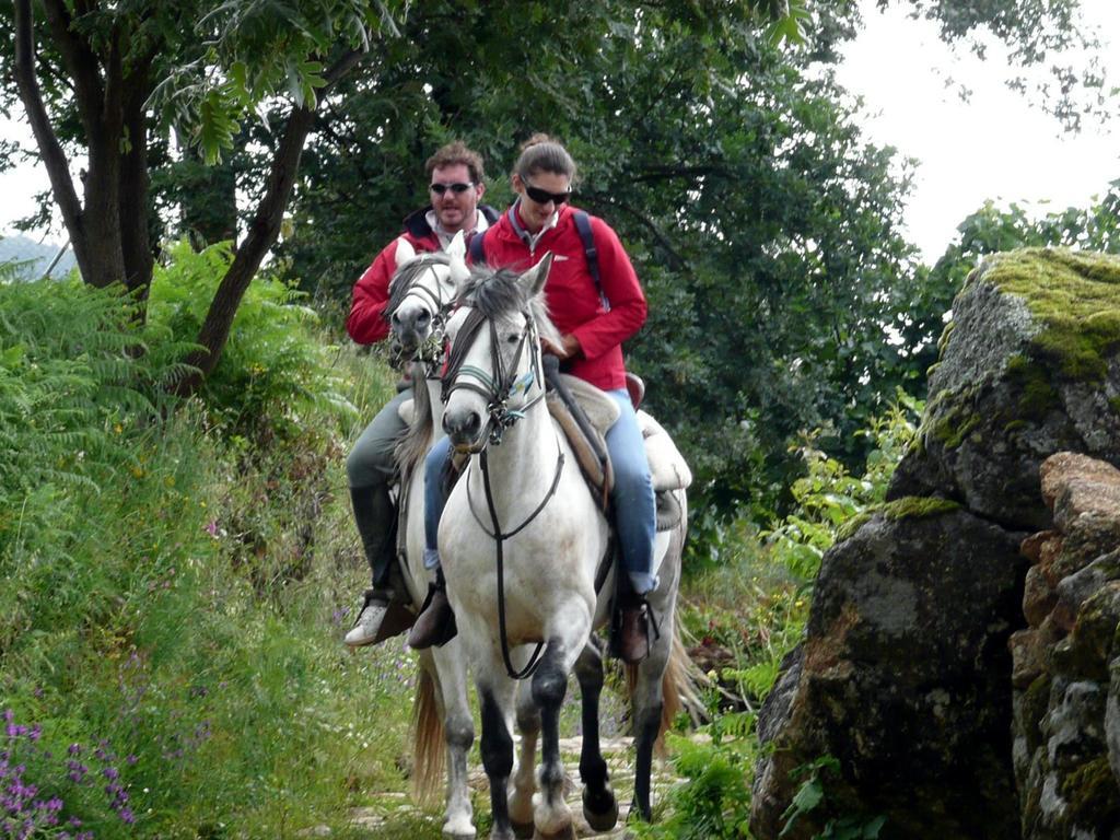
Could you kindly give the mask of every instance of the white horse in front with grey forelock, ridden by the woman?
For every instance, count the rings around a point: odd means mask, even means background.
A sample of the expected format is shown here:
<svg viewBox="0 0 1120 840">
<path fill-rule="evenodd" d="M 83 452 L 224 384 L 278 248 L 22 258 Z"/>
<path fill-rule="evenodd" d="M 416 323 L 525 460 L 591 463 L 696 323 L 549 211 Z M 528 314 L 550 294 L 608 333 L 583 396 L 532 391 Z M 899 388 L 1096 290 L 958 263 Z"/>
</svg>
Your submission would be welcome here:
<svg viewBox="0 0 1120 840">
<path fill-rule="evenodd" d="M 607 520 L 543 400 L 539 335 L 559 343 L 541 295 L 550 265 L 551 255 L 521 277 L 475 268 L 448 330 L 444 428 L 456 448 L 472 456 L 440 520 L 439 550 L 478 690 L 492 840 L 530 831 L 539 838 L 575 837 L 558 730 L 573 669 L 584 702 L 584 813 L 598 831 L 612 828 L 618 815 L 599 752 L 603 662 L 591 635 L 610 616 L 615 571 L 612 566 L 597 591 L 597 572 L 610 548 Z M 683 492 L 678 501 L 683 510 Z M 632 812 L 646 820 L 654 743 L 679 708 L 676 689 L 688 673 L 674 629 L 683 535 L 683 517 L 659 534 L 661 584 L 648 598 L 659 631 L 651 655 L 632 672 Z M 530 673 L 516 692 L 517 680 Z M 514 717 L 522 734 L 516 769 Z M 539 734 L 542 763 L 534 778 Z"/>
</svg>

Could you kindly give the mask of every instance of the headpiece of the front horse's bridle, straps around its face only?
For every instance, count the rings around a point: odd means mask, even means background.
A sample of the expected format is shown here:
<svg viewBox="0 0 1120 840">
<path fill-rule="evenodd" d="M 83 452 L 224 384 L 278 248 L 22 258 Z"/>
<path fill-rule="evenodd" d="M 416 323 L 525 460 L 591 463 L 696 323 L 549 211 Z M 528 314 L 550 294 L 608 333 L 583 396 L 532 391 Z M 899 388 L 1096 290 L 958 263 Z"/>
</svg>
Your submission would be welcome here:
<svg viewBox="0 0 1120 840">
<path fill-rule="evenodd" d="M 544 399 L 544 381 L 541 373 L 540 355 L 536 352 L 536 321 L 533 320 L 529 311 L 522 311 L 522 315 L 525 318 L 525 328 L 521 332 L 517 340 L 517 349 L 514 353 L 513 362 L 510 364 L 508 370 L 505 370 L 502 361 L 497 327 L 494 319 L 487 318 L 478 309 L 472 309 L 467 312 L 463 327 L 459 329 L 455 344 L 451 346 L 451 355 L 448 361 L 447 371 L 444 374 L 444 384 L 440 393 L 444 404 L 447 404 L 451 393 L 458 389 L 474 391 L 486 400 L 487 420 L 484 431 L 488 430 L 486 436 L 487 444 L 493 444 L 494 446 L 501 446 L 505 430 L 523 418 L 529 409 Z M 489 328 L 491 371 L 465 363 L 467 353 L 474 346 L 478 336 L 482 335 L 483 325 Z M 530 349 L 532 368 L 519 376 L 517 367 L 521 364 L 521 356 L 525 352 L 526 344 L 532 347 Z M 530 400 L 529 390 L 534 384 L 540 389 L 540 393 Z M 519 394 L 524 394 L 525 400 L 520 405 L 511 407 L 510 401 Z M 483 446 L 485 447 L 486 445 L 484 444 Z"/>
</svg>

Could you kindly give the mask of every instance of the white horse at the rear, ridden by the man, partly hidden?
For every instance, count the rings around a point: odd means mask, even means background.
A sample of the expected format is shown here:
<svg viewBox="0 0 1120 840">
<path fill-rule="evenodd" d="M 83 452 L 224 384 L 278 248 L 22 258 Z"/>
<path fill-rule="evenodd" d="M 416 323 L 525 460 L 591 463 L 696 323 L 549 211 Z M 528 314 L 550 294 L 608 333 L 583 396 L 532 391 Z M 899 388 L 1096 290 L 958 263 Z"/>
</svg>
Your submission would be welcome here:
<svg viewBox="0 0 1120 840">
<path fill-rule="evenodd" d="M 423 567 L 423 457 L 442 436 L 438 399 L 439 363 L 442 358 L 444 321 L 455 302 L 455 265 L 463 265 L 463 235 L 456 235 L 448 253 L 417 255 L 404 239 L 398 241 L 396 272 L 390 286 L 386 309 L 393 336 L 411 354 L 413 365 L 413 418 L 404 440 L 398 447 L 402 469 L 401 534 L 404 551 L 404 578 L 417 610 L 428 591 L 430 573 Z M 421 468 L 417 468 L 421 467 Z M 475 837 L 470 791 L 467 787 L 467 753 L 475 731 L 467 702 L 466 659 L 458 640 L 442 647 L 421 651 L 420 674 L 413 701 L 416 731 L 413 743 L 413 793 L 431 799 L 447 760 L 447 800 L 444 836 L 451 840 Z"/>
</svg>

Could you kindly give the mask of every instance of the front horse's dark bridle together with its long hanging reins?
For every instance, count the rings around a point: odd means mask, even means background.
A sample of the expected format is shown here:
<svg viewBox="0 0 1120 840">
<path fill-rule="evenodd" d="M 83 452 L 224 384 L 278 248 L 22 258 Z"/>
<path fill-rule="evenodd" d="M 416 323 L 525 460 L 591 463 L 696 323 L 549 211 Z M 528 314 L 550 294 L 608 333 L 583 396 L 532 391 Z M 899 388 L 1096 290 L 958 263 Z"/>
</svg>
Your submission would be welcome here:
<svg viewBox="0 0 1120 840">
<path fill-rule="evenodd" d="M 541 511 L 543 511 L 548 503 L 552 500 L 552 496 L 556 495 L 557 487 L 560 485 L 560 476 L 563 473 L 564 461 L 563 449 L 560 447 L 560 440 L 558 438 L 557 466 L 549 492 L 544 494 L 544 498 L 542 498 L 540 504 L 536 505 L 536 508 L 529 514 L 529 516 L 520 525 L 512 531 L 503 532 L 502 524 L 497 517 L 497 508 L 494 505 L 494 492 L 489 478 L 487 450 L 491 445 L 501 446 L 502 437 L 505 433 L 505 430 L 511 428 L 515 422 L 517 422 L 517 420 L 524 418 L 525 413 L 531 408 L 544 399 L 544 377 L 541 372 L 541 351 L 540 342 L 538 340 L 536 321 L 528 310 L 523 310 L 522 315 L 525 318 L 525 328 L 519 337 L 517 349 L 513 355 L 513 362 L 510 364 L 508 368 L 505 368 L 502 362 L 502 353 L 497 338 L 497 327 L 495 326 L 494 318 L 487 318 L 478 309 L 470 309 L 470 311 L 467 312 L 463 326 L 456 335 L 455 343 L 451 346 L 451 356 L 448 361 L 447 371 L 444 374 L 442 392 L 440 395 L 445 405 L 451 394 L 459 389 L 473 391 L 486 400 L 487 427 L 484 428 L 478 435 L 478 439 L 482 442 L 477 445 L 477 448 L 473 449 L 472 452 L 478 455 L 478 466 L 482 469 L 483 489 L 486 493 L 486 508 L 489 513 L 491 528 L 486 526 L 486 523 L 483 522 L 478 512 L 475 510 L 475 501 L 470 497 L 469 480 L 467 482 L 467 505 L 470 508 L 470 514 L 475 517 L 475 522 L 478 523 L 478 526 L 482 528 L 483 532 L 487 536 L 494 540 L 497 567 L 498 637 L 502 641 L 502 659 L 505 662 L 505 671 L 510 678 L 514 680 L 523 680 L 536 670 L 536 666 L 540 664 L 541 652 L 544 648 L 544 643 L 536 643 L 536 650 L 533 651 L 532 655 L 529 657 L 529 662 L 525 663 L 525 666 L 521 671 L 517 671 L 513 666 L 513 661 L 510 656 L 510 640 L 508 634 L 506 633 L 505 620 L 505 554 L 503 547 L 506 540 L 520 533 L 526 525 L 529 525 L 530 522 L 535 520 L 540 515 Z M 491 371 L 485 371 L 475 365 L 468 365 L 465 363 L 467 353 L 469 353 L 475 342 L 482 335 L 483 325 L 487 325 L 489 328 Z M 517 368 L 521 365 L 521 356 L 525 352 L 526 345 L 531 347 L 529 352 L 532 354 L 532 362 L 530 370 L 519 376 Z M 468 379 L 460 380 L 460 376 L 466 376 Z M 535 386 L 540 393 L 530 398 L 529 392 L 533 386 Z M 510 401 L 519 394 L 524 396 L 522 403 L 515 408 L 511 408 Z"/>
</svg>

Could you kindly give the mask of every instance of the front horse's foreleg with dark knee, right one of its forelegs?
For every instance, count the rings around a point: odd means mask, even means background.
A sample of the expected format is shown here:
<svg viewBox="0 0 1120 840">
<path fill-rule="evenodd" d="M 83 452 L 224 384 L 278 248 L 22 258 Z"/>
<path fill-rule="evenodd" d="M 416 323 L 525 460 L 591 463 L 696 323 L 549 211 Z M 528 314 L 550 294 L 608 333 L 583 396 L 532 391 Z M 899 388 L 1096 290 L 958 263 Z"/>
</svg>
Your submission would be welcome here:
<svg viewBox="0 0 1120 840">
<path fill-rule="evenodd" d="M 571 809 L 563 799 L 564 769 L 560 759 L 560 706 L 571 666 L 564 647 L 562 640 L 550 640 L 533 674 L 533 701 L 541 711 L 540 792 L 533 797 L 533 837 L 539 840 L 576 838 Z"/>
</svg>

